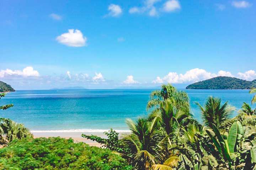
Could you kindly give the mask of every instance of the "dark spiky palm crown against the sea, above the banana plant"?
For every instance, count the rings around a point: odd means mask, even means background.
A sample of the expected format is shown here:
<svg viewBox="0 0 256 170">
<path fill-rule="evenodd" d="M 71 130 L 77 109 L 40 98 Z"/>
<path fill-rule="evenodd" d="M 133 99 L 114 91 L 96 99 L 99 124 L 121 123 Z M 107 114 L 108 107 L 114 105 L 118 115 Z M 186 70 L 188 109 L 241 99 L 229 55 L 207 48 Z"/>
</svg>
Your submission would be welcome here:
<svg viewBox="0 0 256 170">
<path fill-rule="evenodd" d="M 196 103 L 202 113 L 203 121 L 206 126 L 213 128 L 213 124 L 217 127 L 230 118 L 230 114 L 235 110 L 234 107 L 230 107 L 228 102 L 221 105 L 221 100 L 215 97 L 209 97 L 204 107 L 199 103 Z"/>
</svg>

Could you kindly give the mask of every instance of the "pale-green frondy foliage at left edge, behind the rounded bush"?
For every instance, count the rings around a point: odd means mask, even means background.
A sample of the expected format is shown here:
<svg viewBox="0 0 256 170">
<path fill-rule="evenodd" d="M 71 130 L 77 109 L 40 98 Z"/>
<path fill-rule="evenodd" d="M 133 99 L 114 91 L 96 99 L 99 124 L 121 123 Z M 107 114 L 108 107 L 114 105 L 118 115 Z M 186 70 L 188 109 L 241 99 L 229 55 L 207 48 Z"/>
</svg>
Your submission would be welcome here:
<svg viewBox="0 0 256 170">
<path fill-rule="evenodd" d="M 33 137 L 33 135 L 24 125 L 10 119 L 0 118 L 0 145 L 6 146 L 15 139 L 25 137 Z"/>
</svg>

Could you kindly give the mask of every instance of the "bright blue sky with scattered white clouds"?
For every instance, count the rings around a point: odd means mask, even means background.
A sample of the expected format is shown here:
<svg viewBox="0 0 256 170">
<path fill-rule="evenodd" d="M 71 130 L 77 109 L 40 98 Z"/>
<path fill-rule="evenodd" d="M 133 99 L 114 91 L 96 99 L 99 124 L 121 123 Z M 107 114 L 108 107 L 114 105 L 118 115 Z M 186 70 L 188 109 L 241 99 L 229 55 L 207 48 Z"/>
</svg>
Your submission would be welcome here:
<svg viewBox="0 0 256 170">
<path fill-rule="evenodd" d="M 256 79 L 255 0 L 1 0 L 0 81 L 16 90 Z"/>
</svg>

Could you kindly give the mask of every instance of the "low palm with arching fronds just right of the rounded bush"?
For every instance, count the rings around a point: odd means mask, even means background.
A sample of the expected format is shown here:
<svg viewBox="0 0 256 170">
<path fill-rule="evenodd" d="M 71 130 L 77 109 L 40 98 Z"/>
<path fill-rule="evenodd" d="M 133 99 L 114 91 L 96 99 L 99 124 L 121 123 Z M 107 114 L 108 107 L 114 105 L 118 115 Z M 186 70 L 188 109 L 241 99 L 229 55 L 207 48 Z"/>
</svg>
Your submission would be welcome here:
<svg viewBox="0 0 256 170">
<path fill-rule="evenodd" d="M 159 163 L 165 157 L 165 149 L 159 144 L 164 136 L 156 128 L 158 119 L 159 117 L 155 117 L 148 121 L 140 118 L 136 123 L 131 119 L 126 120 L 132 133 L 123 135 L 123 140 L 130 146 L 131 160 L 139 170 L 148 170 L 151 165 Z"/>
</svg>

